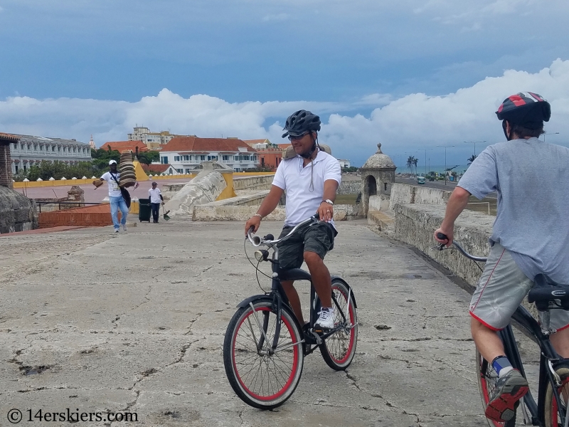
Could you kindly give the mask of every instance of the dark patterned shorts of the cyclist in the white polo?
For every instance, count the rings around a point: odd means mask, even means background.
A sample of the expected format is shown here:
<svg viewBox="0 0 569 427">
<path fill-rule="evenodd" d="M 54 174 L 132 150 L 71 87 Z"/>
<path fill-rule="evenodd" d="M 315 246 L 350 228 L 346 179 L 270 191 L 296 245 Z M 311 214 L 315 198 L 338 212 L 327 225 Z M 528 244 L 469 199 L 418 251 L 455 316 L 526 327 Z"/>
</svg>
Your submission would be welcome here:
<svg viewBox="0 0 569 427">
<path fill-rule="evenodd" d="M 279 238 L 287 236 L 292 228 L 292 226 L 283 228 Z M 326 253 L 334 248 L 334 237 L 337 234 L 334 227 L 324 221 L 302 226 L 287 240 L 278 244 L 280 268 L 285 270 L 300 268 L 304 262 L 304 252 L 317 253 L 324 259 Z"/>
</svg>

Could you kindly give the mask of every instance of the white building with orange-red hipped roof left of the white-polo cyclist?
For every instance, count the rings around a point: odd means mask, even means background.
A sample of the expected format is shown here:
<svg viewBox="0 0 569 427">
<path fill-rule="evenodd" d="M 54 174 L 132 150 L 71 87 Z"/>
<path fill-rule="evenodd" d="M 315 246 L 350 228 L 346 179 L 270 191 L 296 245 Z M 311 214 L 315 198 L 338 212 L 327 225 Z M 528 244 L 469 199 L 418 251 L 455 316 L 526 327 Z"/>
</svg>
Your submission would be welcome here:
<svg viewBox="0 0 569 427">
<path fill-rule="evenodd" d="M 174 137 L 160 151 L 160 163 L 171 164 L 180 174 L 191 174 L 207 161 L 225 164 L 235 172 L 259 165 L 255 149 L 237 138 Z"/>
</svg>

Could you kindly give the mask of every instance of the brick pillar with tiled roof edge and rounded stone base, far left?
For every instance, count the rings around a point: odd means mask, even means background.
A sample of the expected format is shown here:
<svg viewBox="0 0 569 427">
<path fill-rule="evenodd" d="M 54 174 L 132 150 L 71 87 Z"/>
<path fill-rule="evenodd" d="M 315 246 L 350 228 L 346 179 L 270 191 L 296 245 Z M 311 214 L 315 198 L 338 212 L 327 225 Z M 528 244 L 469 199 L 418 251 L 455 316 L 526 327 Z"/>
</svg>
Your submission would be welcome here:
<svg viewBox="0 0 569 427">
<path fill-rule="evenodd" d="M 14 233 L 38 228 L 36 204 L 12 189 L 10 144 L 18 137 L 0 133 L 0 233 Z"/>
</svg>

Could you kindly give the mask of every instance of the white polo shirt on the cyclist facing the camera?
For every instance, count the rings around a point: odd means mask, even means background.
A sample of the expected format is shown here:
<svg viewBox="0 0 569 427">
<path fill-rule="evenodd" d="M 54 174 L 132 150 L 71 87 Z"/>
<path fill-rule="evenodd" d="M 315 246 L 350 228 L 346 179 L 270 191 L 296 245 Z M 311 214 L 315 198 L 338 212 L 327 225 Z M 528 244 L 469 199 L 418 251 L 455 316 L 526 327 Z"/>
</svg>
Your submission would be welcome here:
<svg viewBox="0 0 569 427">
<path fill-rule="evenodd" d="M 340 163 L 330 154 L 319 151 L 316 159 L 306 167 L 302 167 L 303 161 L 299 155 L 283 160 L 272 180 L 272 185 L 287 191 L 285 226 L 296 226 L 316 214 L 324 196 L 324 181 L 334 179 L 338 185 L 341 182 Z M 311 185 L 311 173 L 314 186 Z M 334 221 L 330 223 L 334 225 Z"/>
</svg>

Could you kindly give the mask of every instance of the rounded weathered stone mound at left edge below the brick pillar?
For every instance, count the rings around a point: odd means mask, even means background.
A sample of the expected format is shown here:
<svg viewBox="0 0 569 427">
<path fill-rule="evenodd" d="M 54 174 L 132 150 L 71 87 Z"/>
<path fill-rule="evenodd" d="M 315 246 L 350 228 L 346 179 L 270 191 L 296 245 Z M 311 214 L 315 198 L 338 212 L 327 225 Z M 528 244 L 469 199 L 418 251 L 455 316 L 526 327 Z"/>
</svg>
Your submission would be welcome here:
<svg viewBox="0 0 569 427">
<path fill-rule="evenodd" d="M 38 228 L 36 204 L 23 194 L 0 186 L 0 233 Z"/>
</svg>

